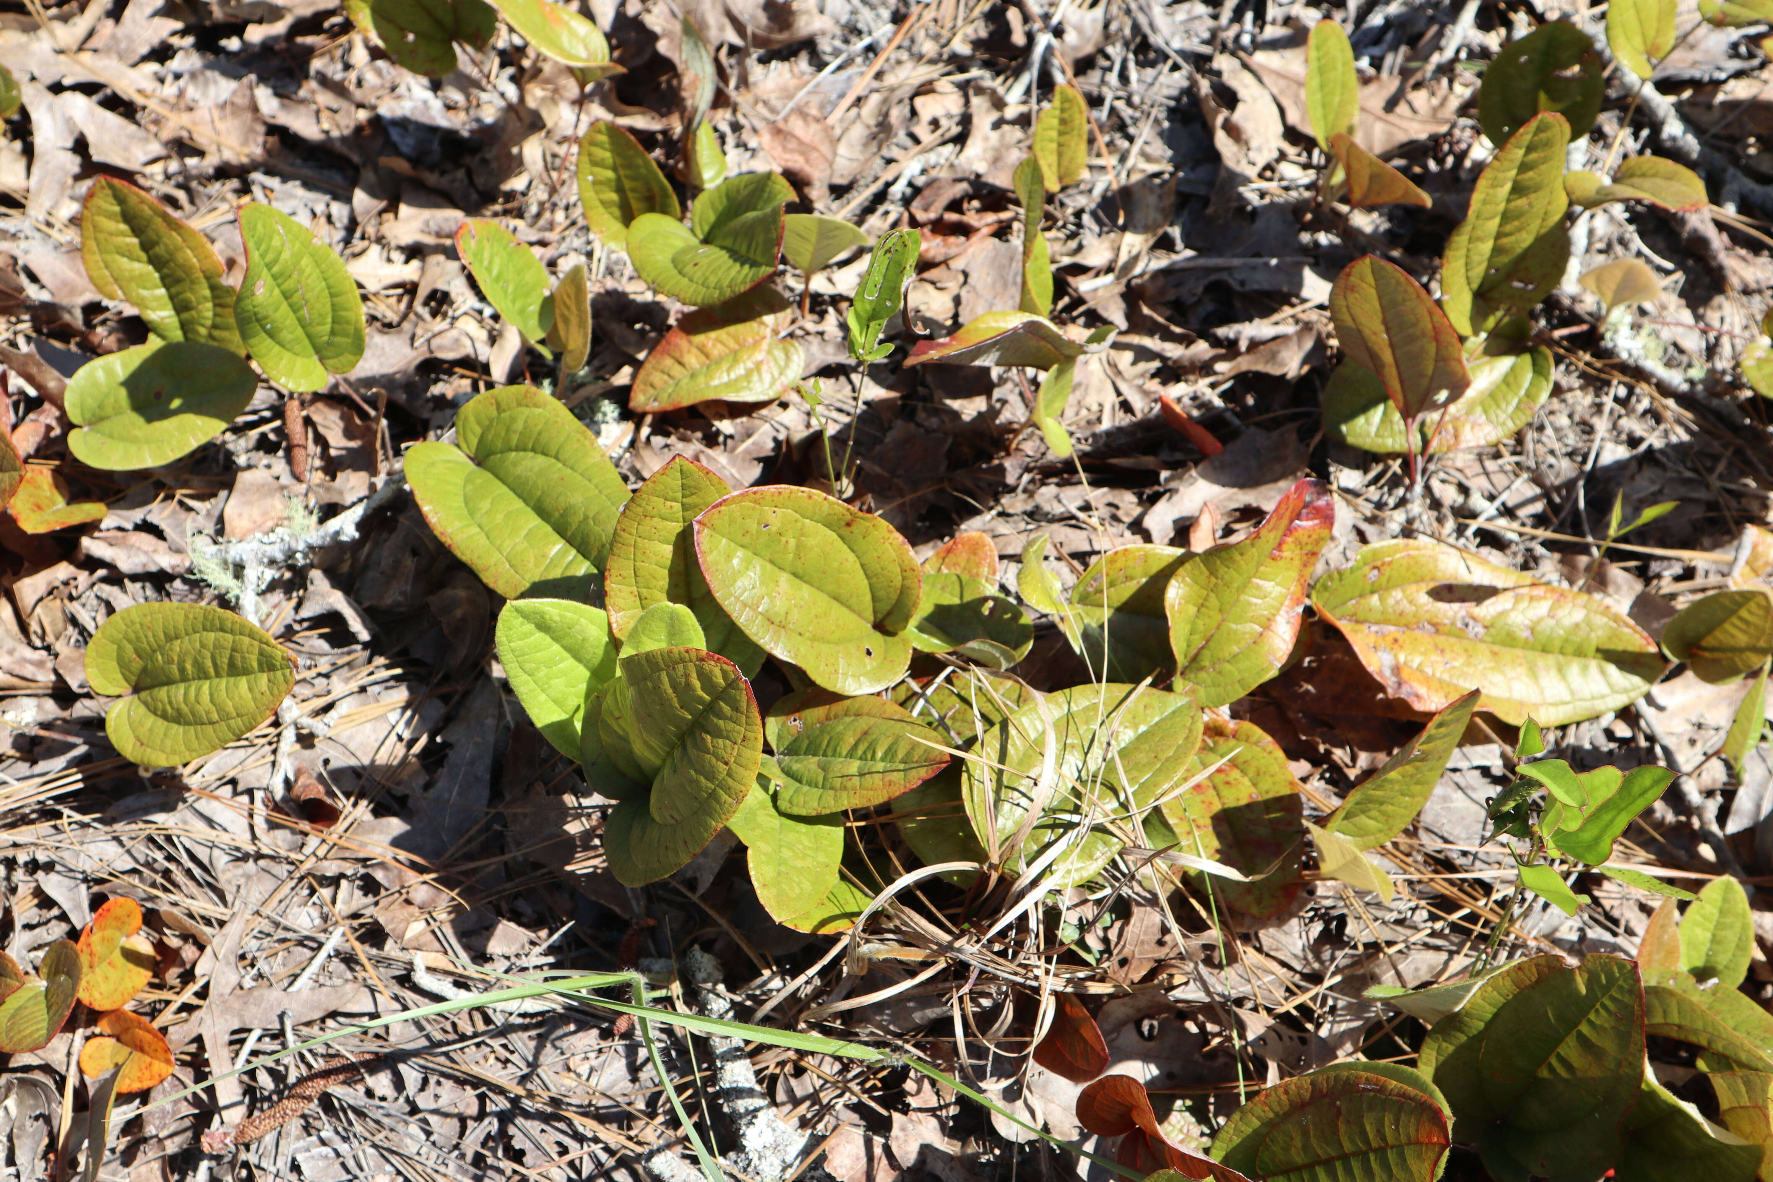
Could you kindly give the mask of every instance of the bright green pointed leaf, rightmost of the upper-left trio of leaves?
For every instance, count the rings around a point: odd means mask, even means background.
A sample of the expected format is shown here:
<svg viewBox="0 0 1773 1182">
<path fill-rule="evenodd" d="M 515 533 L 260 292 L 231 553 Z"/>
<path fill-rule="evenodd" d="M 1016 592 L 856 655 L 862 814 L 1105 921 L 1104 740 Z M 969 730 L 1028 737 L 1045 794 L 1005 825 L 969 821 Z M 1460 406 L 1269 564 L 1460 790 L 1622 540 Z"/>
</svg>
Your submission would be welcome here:
<svg viewBox="0 0 1773 1182">
<path fill-rule="evenodd" d="M 323 390 L 363 358 L 363 301 L 344 261 L 289 214 L 239 207 L 246 276 L 234 301 L 239 337 L 266 377 L 285 390 Z"/>
</svg>

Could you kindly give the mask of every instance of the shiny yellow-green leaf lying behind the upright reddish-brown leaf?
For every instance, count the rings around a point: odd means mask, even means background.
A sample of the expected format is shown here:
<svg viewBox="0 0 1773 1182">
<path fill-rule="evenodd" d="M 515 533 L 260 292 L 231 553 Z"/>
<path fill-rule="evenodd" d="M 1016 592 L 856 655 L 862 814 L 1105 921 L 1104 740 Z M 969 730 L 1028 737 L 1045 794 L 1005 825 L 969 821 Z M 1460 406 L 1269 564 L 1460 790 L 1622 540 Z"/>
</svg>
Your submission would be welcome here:
<svg viewBox="0 0 1773 1182">
<path fill-rule="evenodd" d="M 1417 454 L 1495 447 L 1532 422 L 1551 395 L 1551 351 L 1534 346 L 1512 356 L 1486 356 L 1468 363 L 1472 385 L 1445 411 L 1417 420 Z M 1402 455 L 1404 420 L 1385 393 L 1385 383 L 1355 360 L 1344 360 L 1324 385 L 1324 432 L 1381 455 Z"/>
</svg>

